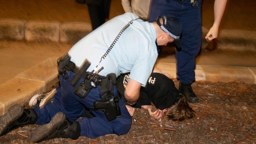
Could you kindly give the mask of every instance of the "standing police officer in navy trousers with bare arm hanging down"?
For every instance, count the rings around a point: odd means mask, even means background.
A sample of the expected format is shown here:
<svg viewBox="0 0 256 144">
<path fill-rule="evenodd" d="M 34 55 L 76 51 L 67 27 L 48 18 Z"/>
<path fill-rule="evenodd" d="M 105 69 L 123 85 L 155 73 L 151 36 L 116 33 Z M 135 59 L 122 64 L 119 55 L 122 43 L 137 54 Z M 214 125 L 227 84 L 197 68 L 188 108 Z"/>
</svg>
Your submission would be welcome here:
<svg viewBox="0 0 256 144">
<path fill-rule="evenodd" d="M 198 97 L 191 88 L 195 81 L 195 57 L 202 41 L 202 0 L 151 0 L 149 20 L 153 22 L 161 15 L 177 17 L 183 26 L 181 49 L 176 48 L 177 79 L 180 80 L 179 90 L 191 103 L 198 102 Z M 214 23 L 206 35 L 206 39 L 215 39 L 224 13 L 227 0 L 215 0 Z"/>
</svg>

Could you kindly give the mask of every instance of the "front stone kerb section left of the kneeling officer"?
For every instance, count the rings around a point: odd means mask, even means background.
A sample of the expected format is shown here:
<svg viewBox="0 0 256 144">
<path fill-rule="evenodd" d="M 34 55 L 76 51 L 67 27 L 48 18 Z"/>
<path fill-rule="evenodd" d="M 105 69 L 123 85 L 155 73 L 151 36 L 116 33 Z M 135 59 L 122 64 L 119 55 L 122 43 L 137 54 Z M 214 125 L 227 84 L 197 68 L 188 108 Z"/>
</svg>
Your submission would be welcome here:
<svg viewBox="0 0 256 144">
<path fill-rule="evenodd" d="M 47 92 L 58 83 L 57 58 L 50 57 L 0 85 L 0 115 L 15 103 L 26 104 L 35 94 Z"/>
</svg>

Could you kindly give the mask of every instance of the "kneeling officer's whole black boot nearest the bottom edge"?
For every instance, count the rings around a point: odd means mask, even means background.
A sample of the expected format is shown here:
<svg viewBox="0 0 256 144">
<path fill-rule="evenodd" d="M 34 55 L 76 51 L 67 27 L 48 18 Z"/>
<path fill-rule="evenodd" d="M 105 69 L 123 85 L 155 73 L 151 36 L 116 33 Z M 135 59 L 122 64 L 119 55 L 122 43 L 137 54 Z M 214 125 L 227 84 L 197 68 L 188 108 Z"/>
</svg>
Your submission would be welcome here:
<svg viewBox="0 0 256 144">
<path fill-rule="evenodd" d="M 31 137 L 32 142 L 41 142 L 53 138 L 72 138 L 76 140 L 80 137 L 81 126 L 79 122 L 71 122 L 65 114 L 58 112 L 48 124 L 39 127 Z"/>
</svg>

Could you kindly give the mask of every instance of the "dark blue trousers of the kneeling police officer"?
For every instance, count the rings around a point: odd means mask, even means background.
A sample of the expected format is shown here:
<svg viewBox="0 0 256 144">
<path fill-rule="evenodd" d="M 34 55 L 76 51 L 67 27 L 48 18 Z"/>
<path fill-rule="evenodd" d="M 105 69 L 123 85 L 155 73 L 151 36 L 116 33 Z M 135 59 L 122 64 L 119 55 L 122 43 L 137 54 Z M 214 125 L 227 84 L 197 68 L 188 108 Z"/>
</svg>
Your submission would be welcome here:
<svg viewBox="0 0 256 144">
<path fill-rule="evenodd" d="M 68 74 L 65 74 L 67 77 Z M 36 124 L 42 125 L 50 122 L 51 118 L 61 111 L 71 121 L 77 120 L 86 109 L 93 109 L 93 102 L 100 99 L 100 86 L 92 89 L 85 98 L 80 98 L 74 93 L 75 87 L 69 84 L 70 80 L 74 76 L 74 73 L 70 71 L 69 78 L 63 79 L 63 76 L 59 76 L 61 87 L 57 88 L 57 92 L 54 95 L 53 103 L 47 103 L 42 109 L 38 106 L 34 107 L 38 120 Z M 80 79 L 78 83 L 81 83 L 83 79 Z M 117 90 L 114 88 L 113 93 L 117 95 Z M 79 120 L 81 125 L 80 135 L 96 138 L 107 134 L 122 135 L 128 133 L 132 125 L 132 118 L 124 105 L 123 100 L 119 100 L 119 107 L 121 109 L 121 116 L 115 120 L 108 121 L 103 111 L 91 111 L 95 116 L 93 118 L 82 118 Z"/>
</svg>

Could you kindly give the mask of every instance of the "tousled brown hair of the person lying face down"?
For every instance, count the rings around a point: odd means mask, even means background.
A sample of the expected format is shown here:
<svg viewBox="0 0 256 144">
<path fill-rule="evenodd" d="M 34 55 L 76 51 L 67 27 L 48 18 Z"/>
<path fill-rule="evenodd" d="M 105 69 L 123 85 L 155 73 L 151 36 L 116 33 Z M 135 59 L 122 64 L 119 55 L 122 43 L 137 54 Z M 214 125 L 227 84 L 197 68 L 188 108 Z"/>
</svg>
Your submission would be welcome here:
<svg viewBox="0 0 256 144">
<path fill-rule="evenodd" d="M 180 97 L 171 107 L 167 108 L 166 115 L 170 120 L 187 120 L 195 117 L 195 111 L 189 107 L 185 96 Z"/>
</svg>

